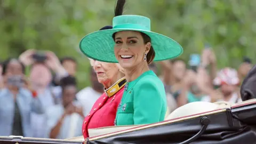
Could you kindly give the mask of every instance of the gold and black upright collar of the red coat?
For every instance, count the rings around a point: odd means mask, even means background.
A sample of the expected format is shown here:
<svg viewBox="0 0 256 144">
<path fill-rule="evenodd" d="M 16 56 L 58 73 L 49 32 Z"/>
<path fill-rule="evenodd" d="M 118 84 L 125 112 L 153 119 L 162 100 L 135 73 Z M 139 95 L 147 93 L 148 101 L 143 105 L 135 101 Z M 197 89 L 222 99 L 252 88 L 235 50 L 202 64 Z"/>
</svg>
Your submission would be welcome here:
<svg viewBox="0 0 256 144">
<path fill-rule="evenodd" d="M 126 79 L 125 79 L 125 77 L 123 77 L 123 78 L 119 79 L 115 84 L 110 86 L 107 90 L 105 89 L 105 92 L 108 95 L 108 97 L 110 98 L 113 95 L 115 95 L 119 90 L 121 90 L 125 84 L 126 84 Z"/>
</svg>

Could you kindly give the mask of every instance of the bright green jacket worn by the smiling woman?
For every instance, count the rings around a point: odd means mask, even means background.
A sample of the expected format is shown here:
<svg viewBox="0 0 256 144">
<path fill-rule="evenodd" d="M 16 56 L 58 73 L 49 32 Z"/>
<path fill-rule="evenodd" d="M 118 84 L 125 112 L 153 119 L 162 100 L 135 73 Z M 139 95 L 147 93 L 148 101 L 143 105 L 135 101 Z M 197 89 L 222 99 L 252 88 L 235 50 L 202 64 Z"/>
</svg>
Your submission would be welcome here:
<svg viewBox="0 0 256 144">
<path fill-rule="evenodd" d="M 164 120 L 166 95 L 162 81 L 149 70 L 127 82 L 115 125 L 151 124 Z"/>
</svg>

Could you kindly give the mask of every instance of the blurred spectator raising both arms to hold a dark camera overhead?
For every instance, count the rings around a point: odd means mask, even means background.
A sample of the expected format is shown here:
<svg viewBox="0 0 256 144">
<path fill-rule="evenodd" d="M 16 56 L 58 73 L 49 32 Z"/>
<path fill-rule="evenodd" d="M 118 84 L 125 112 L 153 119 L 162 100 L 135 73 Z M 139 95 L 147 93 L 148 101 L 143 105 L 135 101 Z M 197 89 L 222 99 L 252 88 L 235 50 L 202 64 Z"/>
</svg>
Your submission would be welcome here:
<svg viewBox="0 0 256 144">
<path fill-rule="evenodd" d="M 29 79 L 31 87 L 43 99 L 43 107 L 48 108 L 61 102 L 61 95 L 56 94 L 51 86 L 52 71 L 57 75 L 54 81 L 59 81 L 68 75 L 62 67 L 58 57 L 51 51 L 36 51 L 33 49 L 23 52 L 19 59 L 30 68 Z M 31 114 L 33 125 L 33 137 L 46 138 L 46 116 L 45 114 Z"/>
</svg>

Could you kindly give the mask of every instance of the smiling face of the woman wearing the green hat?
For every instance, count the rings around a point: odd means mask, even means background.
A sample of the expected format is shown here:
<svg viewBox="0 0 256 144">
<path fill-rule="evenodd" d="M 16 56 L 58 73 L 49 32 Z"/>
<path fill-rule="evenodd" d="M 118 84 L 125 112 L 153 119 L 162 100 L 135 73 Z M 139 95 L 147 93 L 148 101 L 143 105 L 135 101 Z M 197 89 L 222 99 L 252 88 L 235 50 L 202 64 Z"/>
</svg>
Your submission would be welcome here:
<svg viewBox="0 0 256 144">
<path fill-rule="evenodd" d="M 148 53 L 151 43 L 145 44 L 138 31 L 119 31 L 115 34 L 114 52 L 116 59 L 124 69 L 132 69 L 139 63 L 145 62 L 145 54 Z"/>
</svg>

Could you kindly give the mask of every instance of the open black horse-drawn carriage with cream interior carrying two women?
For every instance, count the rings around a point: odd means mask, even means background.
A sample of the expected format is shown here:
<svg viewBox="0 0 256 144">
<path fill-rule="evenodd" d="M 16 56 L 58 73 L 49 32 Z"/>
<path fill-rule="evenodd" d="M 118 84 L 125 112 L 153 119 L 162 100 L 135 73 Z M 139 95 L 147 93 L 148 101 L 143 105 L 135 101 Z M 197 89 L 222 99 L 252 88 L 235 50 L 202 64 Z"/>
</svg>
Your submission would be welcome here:
<svg viewBox="0 0 256 144">
<path fill-rule="evenodd" d="M 206 103 L 187 104 L 177 112 L 196 110 L 198 104 Z M 68 140 L 0 137 L 0 143 L 256 143 L 255 99 L 233 106 L 225 102 L 210 105 L 208 108 L 214 110 L 203 109 L 203 113 L 178 118 L 175 118 L 178 113 L 174 113 L 173 118 L 159 123 L 91 130 L 93 137 L 86 140 L 83 137 Z"/>
</svg>

